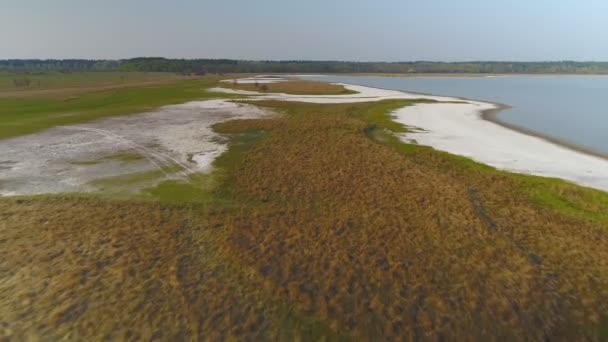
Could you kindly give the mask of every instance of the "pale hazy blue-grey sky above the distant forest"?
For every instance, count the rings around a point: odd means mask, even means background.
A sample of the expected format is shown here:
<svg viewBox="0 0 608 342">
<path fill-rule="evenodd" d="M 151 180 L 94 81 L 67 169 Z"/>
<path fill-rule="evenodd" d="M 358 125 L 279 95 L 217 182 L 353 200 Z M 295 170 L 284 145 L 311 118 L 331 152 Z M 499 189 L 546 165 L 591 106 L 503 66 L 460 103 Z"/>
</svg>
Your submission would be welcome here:
<svg viewBox="0 0 608 342">
<path fill-rule="evenodd" d="M 0 0 L 0 59 L 608 61 L 608 0 Z"/>
</svg>

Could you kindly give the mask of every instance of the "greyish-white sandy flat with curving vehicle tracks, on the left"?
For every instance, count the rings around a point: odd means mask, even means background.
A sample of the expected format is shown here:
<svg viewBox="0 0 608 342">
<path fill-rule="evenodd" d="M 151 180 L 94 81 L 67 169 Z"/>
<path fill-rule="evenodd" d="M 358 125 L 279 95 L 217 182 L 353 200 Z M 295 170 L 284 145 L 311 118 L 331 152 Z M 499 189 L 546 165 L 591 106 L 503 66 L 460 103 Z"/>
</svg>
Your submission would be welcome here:
<svg viewBox="0 0 608 342">
<path fill-rule="evenodd" d="M 96 179 L 158 169 L 166 179 L 208 172 L 227 149 L 211 125 L 268 114 L 226 100 L 193 101 L 0 140 L 0 195 L 93 191 Z M 119 153 L 143 158 L 104 158 Z M 180 171 L 172 171 L 176 165 Z"/>
</svg>

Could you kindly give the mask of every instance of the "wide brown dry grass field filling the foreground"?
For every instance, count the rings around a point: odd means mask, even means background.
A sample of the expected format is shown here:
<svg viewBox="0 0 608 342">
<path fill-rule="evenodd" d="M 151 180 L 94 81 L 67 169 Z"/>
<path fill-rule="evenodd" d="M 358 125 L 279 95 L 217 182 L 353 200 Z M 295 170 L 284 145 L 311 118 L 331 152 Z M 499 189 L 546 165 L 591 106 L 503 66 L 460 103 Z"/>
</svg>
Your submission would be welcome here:
<svg viewBox="0 0 608 342">
<path fill-rule="evenodd" d="M 364 114 L 382 103 L 256 103 L 287 115 L 216 127 L 266 131 L 223 170 L 228 207 L 0 201 L 6 329 L 18 339 L 606 338 L 605 222 L 539 205 L 507 173 L 370 139 Z"/>
</svg>

